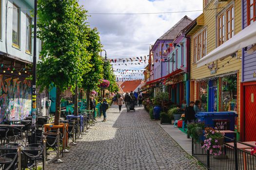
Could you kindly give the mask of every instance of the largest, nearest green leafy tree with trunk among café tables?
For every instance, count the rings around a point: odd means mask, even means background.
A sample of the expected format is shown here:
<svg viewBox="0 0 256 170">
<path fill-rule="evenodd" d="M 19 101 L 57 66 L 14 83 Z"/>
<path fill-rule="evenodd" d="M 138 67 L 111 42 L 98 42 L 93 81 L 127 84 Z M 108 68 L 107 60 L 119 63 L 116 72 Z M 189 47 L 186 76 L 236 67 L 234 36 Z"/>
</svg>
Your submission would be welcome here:
<svg viewBox="0 0 256 170">
<path fill-rule="evenodd" d="M 59 125 L 61 92 L 81 85 L 88 70 L 86 11 L 77 0 L 38 0 L 38 37 L 42 61 L 37 66 L 40 90 L 57 87 L 54 124 Z"/>
</svg>

